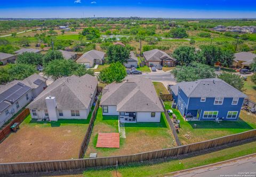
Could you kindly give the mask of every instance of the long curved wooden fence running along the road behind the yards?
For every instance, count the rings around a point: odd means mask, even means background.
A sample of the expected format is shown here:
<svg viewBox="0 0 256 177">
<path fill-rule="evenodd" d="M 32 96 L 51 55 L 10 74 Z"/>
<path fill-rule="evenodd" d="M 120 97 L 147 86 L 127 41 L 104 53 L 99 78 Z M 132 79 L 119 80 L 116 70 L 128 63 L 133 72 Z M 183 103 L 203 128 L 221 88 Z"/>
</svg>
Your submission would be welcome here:
<svg viewBox="0 0 256 177">
<path fill-rule="evenodd" d="M 190 152 L 210 149 L 221 146 L 223 144 L 228 144 L 245 139 L 251 139 L 255 137 L 256 130 L 250 130 L 243 133 L 223 136 L 221 138 L 213 140 L 207 140 L 169 149 L 142 152 L 140 154 L 126 156 L 53 160 L 42 162 L 6 163 L 0 164 L 0 175 L 79 170 L 86 167 L 113 166 L 116 165 L 117 163 L 119 165 L 123 165 L 127 163 L 142 162 L 145 160 L 167 158 L 182 154 L 188 154 Z"/>
</svg>

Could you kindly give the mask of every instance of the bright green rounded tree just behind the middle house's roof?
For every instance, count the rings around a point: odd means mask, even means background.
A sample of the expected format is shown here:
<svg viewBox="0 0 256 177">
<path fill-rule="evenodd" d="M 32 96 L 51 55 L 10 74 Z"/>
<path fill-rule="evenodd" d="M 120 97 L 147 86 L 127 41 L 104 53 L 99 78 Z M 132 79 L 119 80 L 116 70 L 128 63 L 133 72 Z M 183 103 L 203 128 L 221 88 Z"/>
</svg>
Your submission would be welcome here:
<svg viewBox="0 0 256 177">
<path fill-rule="evenodd" d="M 122 82 L 127 75 L 125 67 L 122 63 L 111 63 L 109 67 L 101 70 L 98 75 L 99 81 L 103 83 Z"/>
</svg>

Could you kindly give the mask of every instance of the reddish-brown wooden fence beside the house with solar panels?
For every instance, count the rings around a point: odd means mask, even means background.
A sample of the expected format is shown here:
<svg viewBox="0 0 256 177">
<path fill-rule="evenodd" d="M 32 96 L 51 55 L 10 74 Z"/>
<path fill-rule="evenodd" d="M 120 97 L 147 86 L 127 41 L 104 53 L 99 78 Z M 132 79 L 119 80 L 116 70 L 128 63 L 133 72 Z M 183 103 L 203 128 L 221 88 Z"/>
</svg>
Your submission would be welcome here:
<svg viewBox="0 0 256 177">
<path fill-rule="evenodd" d="M 15 123 L 21 123 L 22 120 L 24 120 L 28 115 L 30 114 L 29 109 L 24 109 L 18 114 L 17 117 L 15 117 L 9 124 L 3 127 L 2 130 L 0 130 L 0 142 L 5 139 L 10 133 L 11 133 L 11 126 Z"/>
</svg>

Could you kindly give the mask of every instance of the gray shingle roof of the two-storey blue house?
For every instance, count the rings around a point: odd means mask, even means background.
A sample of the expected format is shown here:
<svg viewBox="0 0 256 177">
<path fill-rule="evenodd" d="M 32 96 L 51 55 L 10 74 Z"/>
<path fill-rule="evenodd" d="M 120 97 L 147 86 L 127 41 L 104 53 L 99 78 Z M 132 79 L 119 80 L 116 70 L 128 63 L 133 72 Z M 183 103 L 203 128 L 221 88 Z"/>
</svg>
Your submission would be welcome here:
<svg viewBox="0 0 256 177">
<path fill-rule="evenodd" d="M 247 97 L 247 95 L 245 95 L 244 93 L 238 91 L 233 86 L 227 84 L 226 82 L 218 78 L 198 79 L 197 81 L 193 81 L 193 82 L 181 82 L 181 83 L 178 83 L 177 85 L 188 97 L 192 97 L 192 98 L 194 97 L 195 98 L 200 98 L 200 97 L 246 98 Z M 177 91 L 177 94 L 178 94 L 178 91 Z"/>
</svg>

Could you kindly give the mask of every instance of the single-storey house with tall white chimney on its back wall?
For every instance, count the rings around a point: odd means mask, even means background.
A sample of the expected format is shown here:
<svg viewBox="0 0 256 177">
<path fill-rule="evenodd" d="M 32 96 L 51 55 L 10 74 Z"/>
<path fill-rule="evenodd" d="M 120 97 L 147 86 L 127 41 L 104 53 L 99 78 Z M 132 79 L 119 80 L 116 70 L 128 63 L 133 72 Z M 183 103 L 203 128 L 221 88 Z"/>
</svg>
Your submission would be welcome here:
<svg viewBox="0 0 256 177">
<path fill-rule="evenodd" d="M 97 86 L 97 78 L 88 74 L 62 77 L 49 85 L 27 108 L 35 119 L 87 119 Z"/>
</svg>

